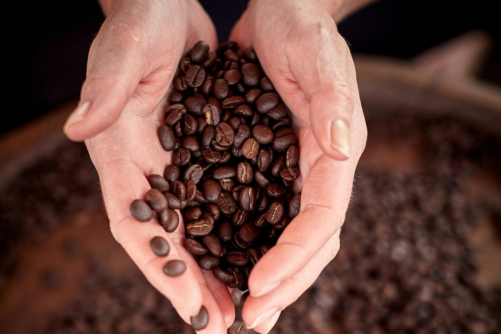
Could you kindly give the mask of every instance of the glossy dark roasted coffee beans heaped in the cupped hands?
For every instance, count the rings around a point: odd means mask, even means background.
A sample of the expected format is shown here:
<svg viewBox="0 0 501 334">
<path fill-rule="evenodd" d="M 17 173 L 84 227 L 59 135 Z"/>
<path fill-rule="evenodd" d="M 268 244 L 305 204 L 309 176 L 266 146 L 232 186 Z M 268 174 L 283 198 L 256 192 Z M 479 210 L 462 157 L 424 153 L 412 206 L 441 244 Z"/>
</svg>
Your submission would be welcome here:
<svg viewBox="0 0 501 334">
<path fill-rule="evenodd" d="M 245 290 L 250 269 L 299 213 L 292 120 L 254 51 L 237 50 L 235 42 L 215 52 L 197 42 L 181 59 L 173 86 L 158 128 L 160 144 L 173 151 L 172 164 L 163 176 L 149 176 L 152 189 L 131 212 L 140 221 L 156 212 L 173 232 L 180 209 L 185 247 L 198 265 Z M 158 241 L 153 245 L 155 253 L 163 250 Z M 184 263 L 172 262 L 164 272 L 181 274 Z"/>
</svg>

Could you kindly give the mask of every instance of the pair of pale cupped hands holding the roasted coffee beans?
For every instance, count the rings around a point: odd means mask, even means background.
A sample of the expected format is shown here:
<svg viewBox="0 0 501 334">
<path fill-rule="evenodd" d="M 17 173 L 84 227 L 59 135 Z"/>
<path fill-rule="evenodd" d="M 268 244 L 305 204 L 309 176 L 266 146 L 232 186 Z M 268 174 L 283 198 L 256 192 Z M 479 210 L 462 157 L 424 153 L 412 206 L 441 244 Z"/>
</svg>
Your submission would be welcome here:
<svg viewBox="0 0 501 334">
<path fill-rule="evenodd" d="M 277 92 L 293 113 L 300 149 L 301 213 L 249 276 L 242 317 L 268 332 L 280 311 L 318 277 L 339 249 L 353 176 L 366 141 L 355 68 L 334 19 L 360 1 L 252 0 L 230 40 L 252 46 Z M 217 47 L 210 18 L 195 0 L 102 0 L 107 19 L 94 40 L 79 107 L 65 125 L 67 136 L 85 140 L 98 170 L 111 231 L 151 284 L 189 323 L 204 305 L 207 327 L 225 333 L 234 320 L 229 289 L 198 267 L 183 246 L 182 221 L 173 233 L 151 220 L 140 223 L 130 204 L 144 198 L 147 176 L 163 174 L 171 153 L 160 146 L 167 88 L 183 52 L 199 40 Z M 334 19 L 333 19 L 334 18 Z M 167 257 L 150 249 L 154 236 L 171 246 Z M 186 271 L 168 277 L 167 259 Z"/>
</svg>

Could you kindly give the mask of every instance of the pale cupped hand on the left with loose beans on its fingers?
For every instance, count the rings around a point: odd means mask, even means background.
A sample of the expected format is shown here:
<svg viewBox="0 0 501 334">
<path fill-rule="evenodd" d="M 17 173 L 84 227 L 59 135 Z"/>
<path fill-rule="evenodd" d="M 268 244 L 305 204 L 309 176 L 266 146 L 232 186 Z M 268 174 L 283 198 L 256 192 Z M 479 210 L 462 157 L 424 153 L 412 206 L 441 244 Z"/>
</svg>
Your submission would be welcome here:
<svg viewBox="0 0 501 334">
<path fill-rule="evenodd" d="M 113 6 L 92 44 L 81 102 L 65 132 L 71 139 L 86 139 L 111 231 L 149 282 L 187 323 L 204 305 L 209 321 L 201 333 L 225 333 L 234 318 L 228 288 L 201 270 L 184 248 L 182 220 L 167 234 L 156 219 L 141 223 L 130 212 L 131 202 L 144 199 L 151 188 L 146 176 L 163 175 L 171 163 L 172 153 L 159 145 L 157 128 L 165 121 L 162 101 L 179 60 L 185 47 L 199 40 L 215 49 L 214 27 L 194 0 L 115 1 Z M 86 104 L 82 115 L 79 109 Z M 168 241 L 167 256 L 153 253 L 155 236 Z M 183 260 L 186 270 L 170 277 L 162 268 L 173 259 Z"/>
</svg>

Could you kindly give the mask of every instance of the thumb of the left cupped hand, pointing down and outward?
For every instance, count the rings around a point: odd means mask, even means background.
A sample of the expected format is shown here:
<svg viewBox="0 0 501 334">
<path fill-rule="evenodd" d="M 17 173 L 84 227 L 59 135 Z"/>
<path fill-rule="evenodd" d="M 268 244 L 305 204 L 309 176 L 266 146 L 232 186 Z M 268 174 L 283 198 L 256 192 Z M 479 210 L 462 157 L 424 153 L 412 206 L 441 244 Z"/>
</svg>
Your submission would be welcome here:
<svg viewBox="0 0 501 334">
<path fill-rule="evenodd" d="M 71 140 L 88 139 L 115 123 L 144 74 L 144 28 L 117 21 L 108 18 L 92 43 L 80 101 L 64 126 Z"/>
</svg>

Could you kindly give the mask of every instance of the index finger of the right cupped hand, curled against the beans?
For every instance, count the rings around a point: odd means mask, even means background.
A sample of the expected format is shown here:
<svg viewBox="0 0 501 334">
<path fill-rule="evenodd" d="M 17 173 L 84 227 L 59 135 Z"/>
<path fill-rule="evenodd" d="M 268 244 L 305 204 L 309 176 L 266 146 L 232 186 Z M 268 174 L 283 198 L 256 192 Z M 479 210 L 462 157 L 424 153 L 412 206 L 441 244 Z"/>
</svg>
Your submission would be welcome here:
<svg viewBox="0 0 501 334">
<path fill-rule="evenodd" d="M 341 227 L 351 196 L 351 163 L 352 159 L 336 161 L 324 155 L 311 168 L 299 215 L 250 272 L 250 295 L 264 295 L 293 276 Z"/>
</svg>

